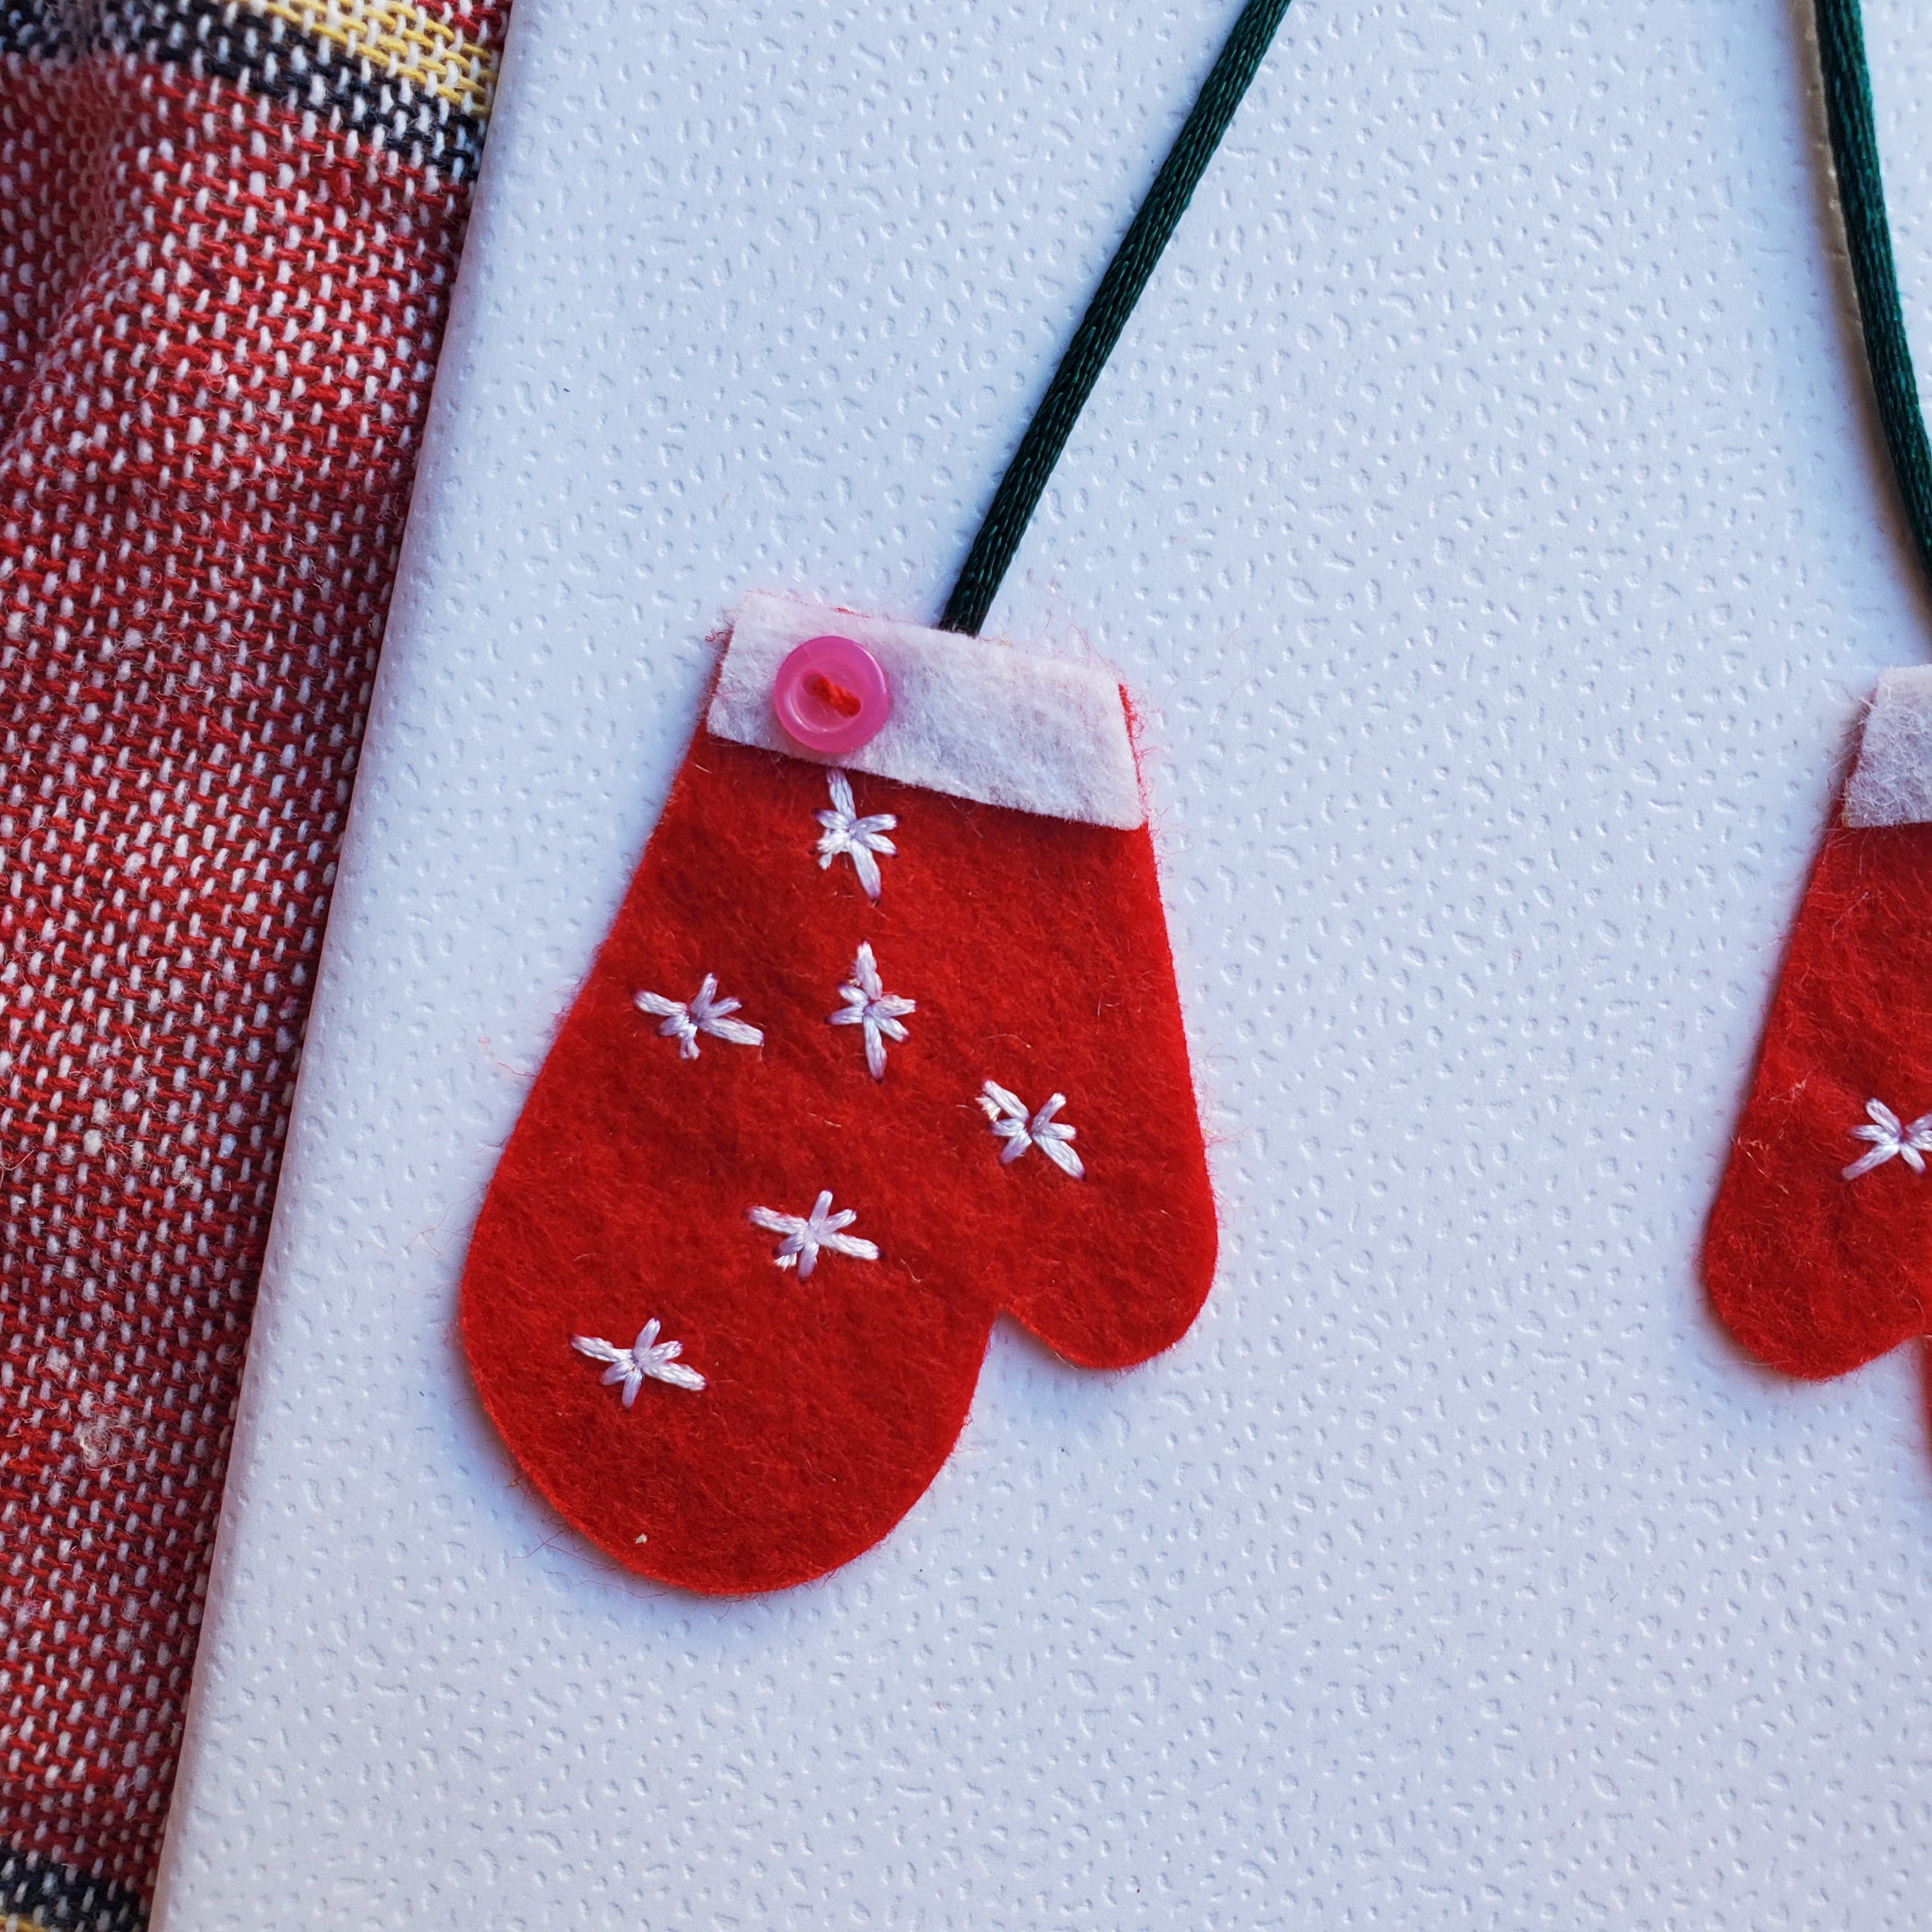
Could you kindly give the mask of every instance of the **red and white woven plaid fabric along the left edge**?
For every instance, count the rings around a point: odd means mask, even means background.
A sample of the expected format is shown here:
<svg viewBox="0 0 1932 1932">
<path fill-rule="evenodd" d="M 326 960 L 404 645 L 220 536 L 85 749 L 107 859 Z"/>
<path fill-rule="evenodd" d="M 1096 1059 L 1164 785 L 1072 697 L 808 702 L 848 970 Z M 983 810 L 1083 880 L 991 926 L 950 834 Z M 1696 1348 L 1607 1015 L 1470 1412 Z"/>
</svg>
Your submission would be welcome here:
<svg viewBox="0 0 1932 1932">
<path fill-rule="evenodd" d="M 143 1917 L 508 0 L 0 0 L 0 1918 Z"/>
</svg>

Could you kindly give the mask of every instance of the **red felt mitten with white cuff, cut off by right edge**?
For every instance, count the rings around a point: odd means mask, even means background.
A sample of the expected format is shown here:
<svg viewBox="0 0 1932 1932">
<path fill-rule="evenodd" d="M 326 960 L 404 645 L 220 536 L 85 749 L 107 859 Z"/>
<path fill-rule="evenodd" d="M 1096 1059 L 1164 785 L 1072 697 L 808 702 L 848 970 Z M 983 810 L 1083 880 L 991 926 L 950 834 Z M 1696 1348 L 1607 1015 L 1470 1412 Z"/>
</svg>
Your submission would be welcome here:
<svg viewBox="0 0 1932 1932">
<path fill-rule="evenodd" d="M 1932 1329 L 1932 670 L 1888 672 L 1704 1240 L 1731 1333 L 1839 1376 Z"/>
</svg>

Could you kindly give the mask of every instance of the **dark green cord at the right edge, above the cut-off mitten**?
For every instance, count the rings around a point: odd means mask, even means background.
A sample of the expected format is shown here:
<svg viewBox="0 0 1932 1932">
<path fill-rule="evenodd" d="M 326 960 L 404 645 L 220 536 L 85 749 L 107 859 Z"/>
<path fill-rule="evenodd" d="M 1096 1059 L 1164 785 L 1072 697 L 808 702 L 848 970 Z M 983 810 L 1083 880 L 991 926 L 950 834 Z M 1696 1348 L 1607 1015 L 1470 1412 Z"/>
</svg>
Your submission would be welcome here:
<svg viewBox="0 0 1932 1932">
<path fill-rule="evenodd" d="M 1891 265 L 1891 228 L 1886 224 L 1886 184 L 1878 172 L 1872 75 L 1864 64 L 1859 0 L 1818 0 L 1818 54 L 1837 199 L 1851 245 L 1851 278 L 1859 290 L 1864 359 L 1872 365 L 1878 421 L 1905 498 L 1905 520 L 1913 527 L 1926 582 L 1932 583 L 1932 450 L 1926 448 L 1913 352 L 1899 307 L 1899 276 Z"/>
</svg>

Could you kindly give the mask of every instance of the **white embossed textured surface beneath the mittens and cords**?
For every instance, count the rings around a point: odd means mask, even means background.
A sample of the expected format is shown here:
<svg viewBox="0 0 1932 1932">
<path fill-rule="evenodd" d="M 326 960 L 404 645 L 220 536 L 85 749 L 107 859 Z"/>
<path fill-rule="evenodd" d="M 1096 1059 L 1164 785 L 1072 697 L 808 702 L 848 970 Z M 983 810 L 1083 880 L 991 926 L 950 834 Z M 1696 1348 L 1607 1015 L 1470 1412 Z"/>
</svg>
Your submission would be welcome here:
<svg viewBox="0 0 1932 1932">
<path fill-rule="evenodd" d="M 1783 1381 L 1694 1275 L 1847 730 L 1932 643 L 1803 0 L 1296 0 L 1059 469 L 993 628 L 1153 719 L 1194 1333 L 1001 1329 L 906 1524 L 738 1604 L 607 1571 L 471 1399 L 469 1219 L 705 634 L 937 612 L 1233 14 L 518 0 L 166 1932 L 1922 1922 L 1917 1364 Z"/>
</svg>

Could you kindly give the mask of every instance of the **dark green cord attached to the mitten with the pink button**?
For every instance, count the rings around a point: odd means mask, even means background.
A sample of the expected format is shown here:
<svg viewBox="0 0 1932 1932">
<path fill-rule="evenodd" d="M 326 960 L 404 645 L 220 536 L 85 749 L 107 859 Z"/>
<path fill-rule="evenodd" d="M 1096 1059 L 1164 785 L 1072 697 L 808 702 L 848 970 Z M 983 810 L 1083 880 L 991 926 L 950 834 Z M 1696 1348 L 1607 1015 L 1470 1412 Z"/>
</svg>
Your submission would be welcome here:
<svg viewBox="0 0 1932 1932">
<path fill-rule="evenodd" d="M 1824 0 L 1820 0 L 1824 4 Z M 1169 236 L 1186 213 L 1194 189 L 1208 168 L 1213 151 L 1227 133 L 1227 124 L 1240 106 L 1240 97 L 1254 79 L 1262 56 L 1275 39 L 1281 15 L 1287 14 L 1289 0 L 1248 0 L 1235 21 L 1235 31 L 1221 48 L 1221 58 L 1213 64 L 1208 83 L 1188 114 L 1186 126 L 1175 137 L 1175 145 L 1161 162 L 1161 172 L 1148 189 L 1148 199 L 1140 205 L 1132 226 L 1121 240 L 1107 263 L 1107 272 L 1099 278 L 1099 288 L 1088 303 L 1080 327 L 1074 330 L 1066 354 L 1061 357 L 1053 381 L 1034 419 L 1020 437 L 1020 446 L 1007 464 L 1007 473 L 993 493 L 993 506 L 985 512 L 980 535 L 972 541 L 966 564 L 952 595 L 947 599 L 947 612 L 939 620 L 941 630 L 962 630 L 976 636 L 985 622 L 985 612 L 993 605 L 1001 578 L 1012 562 L 1012 553 L 1026 535 L 1026 526 L 1039 502 L 1039 493 L 1047 487 L 1053 466 L 1066 448 L 1066 437 L 1080 415 L 1082 406 L 1094 390 L 1107 357 L 1113 354 L 1121 330 L 1126 327 L 1140 292 L 1153 274 L 1153 265 L 1161 259 Z M 1880 234 L 1884 216 L 1880 216 Z M 1886 257 L 1889 269 L 1891 257 Z M 1862 286 L 1862 284 L 1861 284 Z M 1897 298 L 1893 298 L 1893 305 Z M 1924 439 L 1920 437 L 1920 450 Z"/>
</svg>

